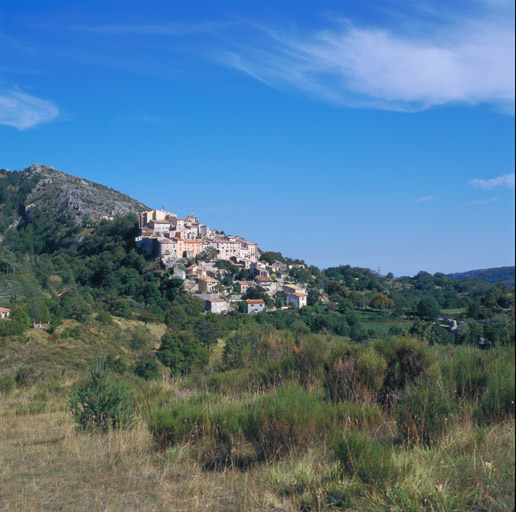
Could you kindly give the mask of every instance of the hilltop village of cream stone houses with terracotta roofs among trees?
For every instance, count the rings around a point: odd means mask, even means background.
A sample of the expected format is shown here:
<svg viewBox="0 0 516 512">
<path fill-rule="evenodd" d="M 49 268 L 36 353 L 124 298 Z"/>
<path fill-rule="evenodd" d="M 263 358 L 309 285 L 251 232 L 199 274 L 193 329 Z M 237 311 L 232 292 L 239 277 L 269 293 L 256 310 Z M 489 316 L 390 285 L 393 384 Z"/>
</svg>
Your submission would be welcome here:
<svg viewBox="0 0 516 512">
<path fill-rule="evenodd" d="M 249 314 L 307 305 L 305 288 L 288 278 L 290 268 L 303 264 L 261 262 L 257 243 L 213 230 L 193 213 L 180 218 L 163 210 L 145 211 L 139 228 L 136 245 L 142 253 L 159 258 L 173 277 L 184 280 L 188 293 L 206 300 L 212 313 L 244 304 Z"/>
</svg>

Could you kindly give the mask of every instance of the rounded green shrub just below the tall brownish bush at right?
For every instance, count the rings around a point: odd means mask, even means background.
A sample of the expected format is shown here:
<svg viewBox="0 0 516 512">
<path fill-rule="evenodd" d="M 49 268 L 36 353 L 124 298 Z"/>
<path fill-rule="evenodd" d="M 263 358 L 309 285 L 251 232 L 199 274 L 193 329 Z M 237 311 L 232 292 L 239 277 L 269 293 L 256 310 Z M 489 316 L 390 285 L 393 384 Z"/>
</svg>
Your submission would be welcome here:
<svg viewBox="0 0 516 512">
<path fill-rule="evenodd" d="M 407 386 L 394 407 L 400 439 L 408 444 L 433 444 L 452 423 L 453 406 L 441 382 Z"/>
</svg>

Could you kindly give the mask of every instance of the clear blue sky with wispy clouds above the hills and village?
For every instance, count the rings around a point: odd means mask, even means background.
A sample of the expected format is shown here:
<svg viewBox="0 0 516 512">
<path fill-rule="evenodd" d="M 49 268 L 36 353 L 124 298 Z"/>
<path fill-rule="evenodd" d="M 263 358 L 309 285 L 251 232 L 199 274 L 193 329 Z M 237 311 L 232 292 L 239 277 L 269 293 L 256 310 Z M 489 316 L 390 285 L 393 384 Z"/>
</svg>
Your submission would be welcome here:
<svg viewBox="0 0 516 512">
<path fill-rule="evenodd" d="M 0 6 L 0 167 L 319 267 L 513 265 L 514 136 L 513 2 Z"/>
</svg>

